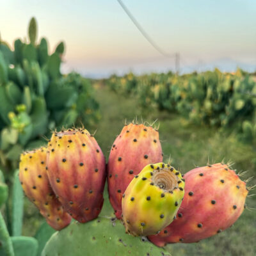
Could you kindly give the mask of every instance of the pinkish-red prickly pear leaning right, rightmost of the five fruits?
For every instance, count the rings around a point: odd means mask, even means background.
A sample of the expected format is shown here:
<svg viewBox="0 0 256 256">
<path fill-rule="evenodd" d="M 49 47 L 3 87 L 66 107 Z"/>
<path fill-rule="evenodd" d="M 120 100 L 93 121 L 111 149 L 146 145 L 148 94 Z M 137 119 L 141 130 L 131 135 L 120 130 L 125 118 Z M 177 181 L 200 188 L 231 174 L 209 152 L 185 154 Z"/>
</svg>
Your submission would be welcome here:
<svg viewBox="0 0 256 256">
<path fill-rule="evenodd" d="M 177 219 L 152 243 L 195 243 L 230 227 L 242 214 L 248 191 L 246 184 L 226 164 L 195 168 L 184 175 L 185 196 Z"/>
</svg>

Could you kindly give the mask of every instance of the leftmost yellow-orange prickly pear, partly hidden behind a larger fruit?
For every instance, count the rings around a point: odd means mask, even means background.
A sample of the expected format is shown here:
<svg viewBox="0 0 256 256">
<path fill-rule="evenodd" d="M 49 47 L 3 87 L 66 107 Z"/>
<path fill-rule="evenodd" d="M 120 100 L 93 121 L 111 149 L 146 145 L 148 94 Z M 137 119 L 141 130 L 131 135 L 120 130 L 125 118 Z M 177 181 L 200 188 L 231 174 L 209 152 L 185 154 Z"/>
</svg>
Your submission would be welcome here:
<svg viewBox="0 0 256 256">
<path fill-rule="evenodd" d="M 71 217 L 63 211 L 60 201 L 52 191 L 47 177 L 47 148 L 39 148 L 20 155 L 19 179 L 25 195 L 40 210 L 47 223 L 56 230 L 66 227 Z"/>
</svg>

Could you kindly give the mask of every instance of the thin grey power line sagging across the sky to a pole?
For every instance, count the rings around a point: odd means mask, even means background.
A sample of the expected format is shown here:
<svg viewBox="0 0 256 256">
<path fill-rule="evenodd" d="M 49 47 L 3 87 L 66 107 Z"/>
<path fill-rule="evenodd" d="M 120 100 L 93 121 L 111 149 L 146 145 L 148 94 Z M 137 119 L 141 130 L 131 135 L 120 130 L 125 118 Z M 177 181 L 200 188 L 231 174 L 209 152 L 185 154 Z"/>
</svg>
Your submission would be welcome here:
<svg viewBox="0 0 256 256">
<path fill-rule="evenodd" d="M 129 16 L 129 18 L 132 20 L 133 24 L 139 29 L 140 33 L 147 39 L 147 41 L 158 51 L 160 54 L 162 54 L 166 58 L 175 58 L 176 54 L 168 54 L 167 52 L 163 51 L 159 45 L 150 38 L 148 33 L 141 27 L 140 23 L 135 19 L 135 17 L 132 15 L 132 13 L 128 10 L 128 8 L 125 6 L 125 4 L 122 2 L 122 0 L 117 0 L 120 6 L 123 8 L 125 13 Z"/>
</svg>

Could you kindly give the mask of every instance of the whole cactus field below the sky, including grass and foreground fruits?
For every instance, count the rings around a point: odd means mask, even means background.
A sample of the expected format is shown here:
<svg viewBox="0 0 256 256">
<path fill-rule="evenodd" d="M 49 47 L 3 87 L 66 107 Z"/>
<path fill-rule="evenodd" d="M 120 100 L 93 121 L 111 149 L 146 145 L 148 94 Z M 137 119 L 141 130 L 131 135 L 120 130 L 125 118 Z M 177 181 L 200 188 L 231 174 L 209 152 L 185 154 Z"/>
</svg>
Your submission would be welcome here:
<svg viewBox="0 0 256 256">
<path fill-rule="evenodd" d="M 255 74 L 63 74 L 0 38 L 0 256 L 256 255 Z"/>
</svg>

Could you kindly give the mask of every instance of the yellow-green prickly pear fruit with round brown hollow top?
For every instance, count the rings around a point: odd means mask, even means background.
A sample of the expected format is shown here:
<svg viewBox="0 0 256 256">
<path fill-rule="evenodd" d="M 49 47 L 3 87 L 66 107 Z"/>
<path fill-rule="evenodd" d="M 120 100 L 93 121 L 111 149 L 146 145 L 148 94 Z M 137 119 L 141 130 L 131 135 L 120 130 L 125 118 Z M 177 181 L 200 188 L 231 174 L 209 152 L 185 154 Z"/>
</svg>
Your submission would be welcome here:
<svg viewBox="0 0 256 256">
<path fill-rule="evenodd" d="M 157 234 L 175 218 L 184 180 L 170 164 L 148 164 L 131 181 L 122 199 L 125 230 L 132 236 Z"/>
</svg>

